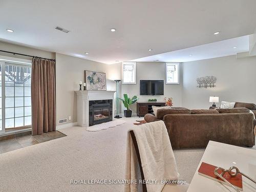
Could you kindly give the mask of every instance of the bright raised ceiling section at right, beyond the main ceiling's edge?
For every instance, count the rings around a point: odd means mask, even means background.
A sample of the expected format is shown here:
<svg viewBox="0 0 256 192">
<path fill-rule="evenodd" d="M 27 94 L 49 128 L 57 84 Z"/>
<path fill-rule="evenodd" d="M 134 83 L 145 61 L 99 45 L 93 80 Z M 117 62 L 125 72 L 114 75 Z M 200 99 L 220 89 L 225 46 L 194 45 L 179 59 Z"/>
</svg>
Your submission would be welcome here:
<svg viewBox="0 0 256 192">
<path fill-rule="evenodd" d="M 249 51 L 249 35 L 222 40 L 218 42 L 211 42 L 210 44 L 180 49 L 167 53 L 161 53 L 158 55 L 133 59 L 131 61 L 188 62 L 194 60 L 236 55 L 237 53 L 247 51 Z"/>
</svg>

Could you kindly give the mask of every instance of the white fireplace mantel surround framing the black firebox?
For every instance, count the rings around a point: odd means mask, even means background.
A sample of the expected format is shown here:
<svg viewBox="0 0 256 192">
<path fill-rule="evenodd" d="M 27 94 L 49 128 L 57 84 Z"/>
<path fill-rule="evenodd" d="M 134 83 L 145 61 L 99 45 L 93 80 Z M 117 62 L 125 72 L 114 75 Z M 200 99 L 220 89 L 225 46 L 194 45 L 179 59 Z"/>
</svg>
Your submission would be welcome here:
<svg viewBox="0 0 256 192">
<path fill-rule="evenodd" d="M 75 91 L 77 95 L 77 123 L 89 126 L 89 101 L 112 99 L 114 104 L 115 91 Z M 114 106 L 113 106 L 114 109 Z"/>
</svg>

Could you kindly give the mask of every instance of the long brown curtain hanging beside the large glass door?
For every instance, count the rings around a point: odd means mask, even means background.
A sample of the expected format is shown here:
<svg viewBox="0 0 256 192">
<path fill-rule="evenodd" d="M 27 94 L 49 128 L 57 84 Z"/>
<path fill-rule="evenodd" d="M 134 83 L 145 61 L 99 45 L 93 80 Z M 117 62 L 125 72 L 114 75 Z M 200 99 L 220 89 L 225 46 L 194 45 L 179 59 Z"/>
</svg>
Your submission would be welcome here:
<svg viewBox="0 0 256 192">
<path fill-rule="evenodd" d="M 55 60 L 33 58 L 31 101 L 32 135 L 56 131 Z"/>
</svg>

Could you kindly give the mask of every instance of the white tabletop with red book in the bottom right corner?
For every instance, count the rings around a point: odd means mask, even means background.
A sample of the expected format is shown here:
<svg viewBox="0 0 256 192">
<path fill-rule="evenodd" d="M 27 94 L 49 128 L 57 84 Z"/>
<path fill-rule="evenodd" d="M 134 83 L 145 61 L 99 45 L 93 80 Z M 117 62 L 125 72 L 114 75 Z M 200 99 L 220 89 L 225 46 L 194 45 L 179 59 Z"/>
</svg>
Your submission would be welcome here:
<svg viewBox="0 0 256 192">
<path fill-rule="evenodd" d="M 198 169 L 202 162 L 222 168 L 237 166 L 242 173 L 256 180 L 256 150 L 209 141 L 187 192 L 235 191 L 232 187 L 199 175 Z M 256 191 L 256 184 L 244 176 L 243 191 Z"/>
</svg>

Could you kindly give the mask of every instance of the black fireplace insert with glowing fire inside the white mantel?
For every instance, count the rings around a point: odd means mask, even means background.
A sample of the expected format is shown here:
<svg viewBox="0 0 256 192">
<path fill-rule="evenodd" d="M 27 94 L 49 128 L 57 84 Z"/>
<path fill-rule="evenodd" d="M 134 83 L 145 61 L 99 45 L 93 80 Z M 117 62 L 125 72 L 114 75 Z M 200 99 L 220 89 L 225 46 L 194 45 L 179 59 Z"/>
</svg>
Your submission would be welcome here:
<svg viewBox="0 0 256 192">
<path fill-rule="evenodd" d="M 113 100 L 92 100 L 89 101 L 89 126 L 112 121 Z"/>
</svg>

